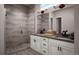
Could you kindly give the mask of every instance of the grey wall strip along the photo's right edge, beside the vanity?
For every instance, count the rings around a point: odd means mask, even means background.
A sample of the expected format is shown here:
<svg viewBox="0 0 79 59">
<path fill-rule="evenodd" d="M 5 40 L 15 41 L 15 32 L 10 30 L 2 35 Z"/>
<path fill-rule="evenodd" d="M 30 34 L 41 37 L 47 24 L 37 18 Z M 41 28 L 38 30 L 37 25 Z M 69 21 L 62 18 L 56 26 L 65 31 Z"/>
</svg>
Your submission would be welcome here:
<svg viewBox="0 0 79 59">
<path fill-rule="evenodd" d="M 79 5 L 75 7 L 75 52 L 79 54 Z"/>
</svg>

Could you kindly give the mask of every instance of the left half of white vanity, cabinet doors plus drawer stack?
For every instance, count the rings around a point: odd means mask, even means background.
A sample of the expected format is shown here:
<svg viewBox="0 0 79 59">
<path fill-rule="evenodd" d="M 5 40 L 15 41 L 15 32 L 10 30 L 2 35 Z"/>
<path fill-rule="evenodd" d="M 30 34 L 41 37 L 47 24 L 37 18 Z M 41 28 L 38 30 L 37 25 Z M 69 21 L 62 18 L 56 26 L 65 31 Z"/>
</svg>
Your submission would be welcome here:
<svg viewBox="0 0 79 59">
<path fill-rule="evenodd" d="M 48 54 L 48 38 L 30 36 L 30 47 L 41 54 Z"/>
</svg>

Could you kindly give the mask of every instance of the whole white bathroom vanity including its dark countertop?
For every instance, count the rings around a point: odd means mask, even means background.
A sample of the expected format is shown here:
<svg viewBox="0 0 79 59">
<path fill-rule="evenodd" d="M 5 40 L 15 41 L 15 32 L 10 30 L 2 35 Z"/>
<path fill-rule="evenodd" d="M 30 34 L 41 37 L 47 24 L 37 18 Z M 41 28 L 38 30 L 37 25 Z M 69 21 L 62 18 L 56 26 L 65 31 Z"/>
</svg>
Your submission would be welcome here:
<svg viewBox="0 0 79 59">
<path fill-rule="evenodd" d="M 74 41 L 68 38 L 32 34 L 30 47 L 43 55 L 74 55 Z"/>
</svg>

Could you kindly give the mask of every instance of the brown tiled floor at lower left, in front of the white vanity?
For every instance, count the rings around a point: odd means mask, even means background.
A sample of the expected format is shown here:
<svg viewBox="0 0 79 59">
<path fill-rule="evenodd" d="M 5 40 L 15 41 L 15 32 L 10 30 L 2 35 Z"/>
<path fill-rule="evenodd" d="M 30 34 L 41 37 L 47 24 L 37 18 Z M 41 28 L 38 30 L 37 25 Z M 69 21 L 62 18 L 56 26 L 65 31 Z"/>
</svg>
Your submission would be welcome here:
<svg viewBox="0 0 79 59">
<path fill-rule="evenodd" d="M 30 44 L 22 44 L 15 48 L 7 48 L 6 55 L 40 55 L 40 53 L 30 48 Z"/>
</svg>

